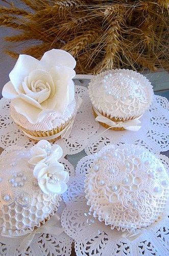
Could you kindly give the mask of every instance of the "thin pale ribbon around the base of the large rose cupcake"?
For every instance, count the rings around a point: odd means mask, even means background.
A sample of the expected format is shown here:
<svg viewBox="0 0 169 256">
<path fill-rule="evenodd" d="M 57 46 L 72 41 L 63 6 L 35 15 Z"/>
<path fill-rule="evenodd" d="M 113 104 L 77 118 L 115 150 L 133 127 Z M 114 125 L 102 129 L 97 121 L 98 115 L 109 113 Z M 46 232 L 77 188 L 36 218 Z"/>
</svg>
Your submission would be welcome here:
<svg viewBox="0 0 169 256">
<path fill-rule="evenodd" d="M 82 104 L 82 99 L 79 97 L 78 100 L 77 100 L 77 105 L 76 105 L 77 110 L 76 110 L 76 113 L 75 113 L 74 117 L 71 119 L 69 124 L 59 133 L 56 133 L 56 134 L 51 135 L 51 136 L 36 137 L 36 136 L 32 136 L 32 135 L 26 133 L 25 131 L 22 131 L 22 132 L 25 135 L 27 135 L 29 138 L 34 139 L 34 140 L 53 140 L 53 139 L 56 139 L 56 138 L 58 138 L 60 136 L 61 136 L 61 138 L 68 138 L 68 136 L 70 135 L 71 130 L 73 128 L 77 111 L 80 108 L 81 104 Z"/>
</svg>

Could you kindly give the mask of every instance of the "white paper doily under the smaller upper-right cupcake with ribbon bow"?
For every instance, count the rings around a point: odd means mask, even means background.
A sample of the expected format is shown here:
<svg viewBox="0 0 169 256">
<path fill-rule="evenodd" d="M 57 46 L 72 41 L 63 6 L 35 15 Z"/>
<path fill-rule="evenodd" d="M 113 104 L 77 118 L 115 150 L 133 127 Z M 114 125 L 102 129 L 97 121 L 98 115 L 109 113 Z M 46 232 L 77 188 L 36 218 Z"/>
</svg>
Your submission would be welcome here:
<svg viewBox="0 0 169 256">
<path fill-rule="evenodd" d="M 155 95 L 151 108 L 139 119 L 141 129 L 132 131 L 110 131 L 100 125 L 97 134 L 85 147 L 87 155 L 98 152 L 103 146 L 113 143 L 133 143 L 146 147 L 153 153 L 169 150 L 169 102 Z"/>
</svg>

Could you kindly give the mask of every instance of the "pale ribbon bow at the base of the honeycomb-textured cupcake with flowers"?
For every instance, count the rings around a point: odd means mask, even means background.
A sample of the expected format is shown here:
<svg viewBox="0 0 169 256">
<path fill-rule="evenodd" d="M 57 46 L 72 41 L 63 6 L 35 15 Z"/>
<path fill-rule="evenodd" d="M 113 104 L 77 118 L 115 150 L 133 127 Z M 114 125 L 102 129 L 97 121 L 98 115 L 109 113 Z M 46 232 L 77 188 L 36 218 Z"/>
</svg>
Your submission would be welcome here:
<svg viewBox="0 0 169 256">
<path fill-rule="evenodd" d="M 55 214 L 50 221 L 47 221 L 44 225 L 40 226 L 39 228 L 36 228 L 33 232 L 27 234 L 24 236 L 20 246 L 19 251 L 25 252 L 27 248 L 30 246 L 31 242 L 33 241 L 35 234 L 39 233 L 49 233 L 53 234 L 54 236 L 58 236 L 61 234 L 64 229 L 62 227 L 59 227 L 59 216 Z"/>
</svg>

